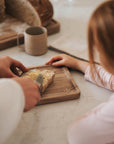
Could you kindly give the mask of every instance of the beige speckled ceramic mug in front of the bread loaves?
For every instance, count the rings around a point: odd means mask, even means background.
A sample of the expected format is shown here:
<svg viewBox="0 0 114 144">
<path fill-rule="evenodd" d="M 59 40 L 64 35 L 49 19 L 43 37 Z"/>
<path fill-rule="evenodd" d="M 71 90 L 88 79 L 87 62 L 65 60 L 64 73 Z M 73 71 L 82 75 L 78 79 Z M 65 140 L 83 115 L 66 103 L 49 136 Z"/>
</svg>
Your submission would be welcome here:
<svg viewBox="0 0 114 144">
<path fill-rule="evenodd" d="M 19 46 L 19 35 L 17 38 L 17 45 Z M 47 52 L 47 29 L 36 26 L 29 27 L 24 32 L 25 52 L 39 56 Z"/>
</svg>

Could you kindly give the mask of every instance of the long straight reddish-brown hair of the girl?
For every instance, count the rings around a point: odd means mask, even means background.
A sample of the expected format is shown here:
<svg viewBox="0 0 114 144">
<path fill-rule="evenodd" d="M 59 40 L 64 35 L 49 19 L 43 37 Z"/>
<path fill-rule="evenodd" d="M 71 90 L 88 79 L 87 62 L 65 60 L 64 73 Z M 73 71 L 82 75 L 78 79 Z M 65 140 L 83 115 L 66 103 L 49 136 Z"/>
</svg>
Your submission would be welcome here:
<svg viewBox="0 0 114 144">
<path fill-rule="evenodd" d="M 88 50 L 92 73 L 95 70 L 95 46 L 109 65 L 114 64 L 114 0 L 107 0 L 98 6 L 89 21 Z"/>
</svg>

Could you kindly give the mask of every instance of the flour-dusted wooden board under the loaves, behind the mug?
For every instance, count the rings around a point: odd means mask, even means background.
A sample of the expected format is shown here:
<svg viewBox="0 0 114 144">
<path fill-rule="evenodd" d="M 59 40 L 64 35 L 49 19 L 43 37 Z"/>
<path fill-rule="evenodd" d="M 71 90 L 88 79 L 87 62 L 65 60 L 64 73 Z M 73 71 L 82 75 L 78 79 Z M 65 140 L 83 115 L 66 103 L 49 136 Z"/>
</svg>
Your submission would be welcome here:
<svg viewBox="0 0 114 144">
<path fill-rule="evenodd" d="M 17 45 L 17 33 L 22 33 L 30 27 L 26 23 L 20 22 L 10 16 L 6 17 L 3 23 L 0 23 L 0 50 L 10 48 Z M 48 24 L 48 35 L 55 34 L 60 31 L 60 23 L 52 19 Z M 20 44 L 24 43 L 24 36 L 20 36 Z"/>
</svg>

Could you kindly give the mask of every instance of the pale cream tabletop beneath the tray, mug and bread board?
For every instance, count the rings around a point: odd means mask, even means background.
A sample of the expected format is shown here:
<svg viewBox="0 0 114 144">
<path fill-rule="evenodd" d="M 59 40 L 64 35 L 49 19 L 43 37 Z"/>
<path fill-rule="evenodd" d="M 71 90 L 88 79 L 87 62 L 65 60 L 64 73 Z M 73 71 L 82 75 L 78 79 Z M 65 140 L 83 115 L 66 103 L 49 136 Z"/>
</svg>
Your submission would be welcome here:
<svg viewBox="0 0 114 144">
<path fill-rule="evenodd" d="M 51 1 L 55 9 L 54 17 L 61 23 L 61 32 L 49 36 L 49 43 L 67 34 L 85 40 L 89 17 L 96 6 L 104 0 L 73 0 L 74 4 L 68 4 L 68 0 Z M 56 54 L 58 53 L 48 50 L 45 55 L 30 56 L 24 50 L 13 47 L 1 51 L 0 57 L 8 55 L 21 61 L 25 66 L 38 66 Z M 71 74 L 80 88 L 80 99 L 42 105 L 24 113 L 7 144 L 68 144 L 69 125 L 110 97 L 111 91 L 85 81 L 80 72 L 71 71 Z"/>
</svg>

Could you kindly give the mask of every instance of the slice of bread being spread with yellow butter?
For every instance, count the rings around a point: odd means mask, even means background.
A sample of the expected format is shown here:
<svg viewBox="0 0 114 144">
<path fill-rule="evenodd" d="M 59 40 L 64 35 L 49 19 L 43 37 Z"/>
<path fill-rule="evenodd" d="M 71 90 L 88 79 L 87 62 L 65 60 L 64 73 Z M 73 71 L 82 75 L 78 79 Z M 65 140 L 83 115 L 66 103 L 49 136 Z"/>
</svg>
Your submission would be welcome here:
<svg viewBox="0 0 114 144">
<path fill-rule="evenodd" d="M 42 74 L 43 76 L 43 83 L 42 83 L 42 89 L 41 93 L 43 93 L 46 88 L 53 82 L 55 72 L 52 70 L 38 70 L 38 69 L 33 69 L 29 70 L 28 72 L 24 73 L 22 77 L 30 77 L 32 78 L 33 81 L 36 80 L 39 74 Z"/>
</svg>

